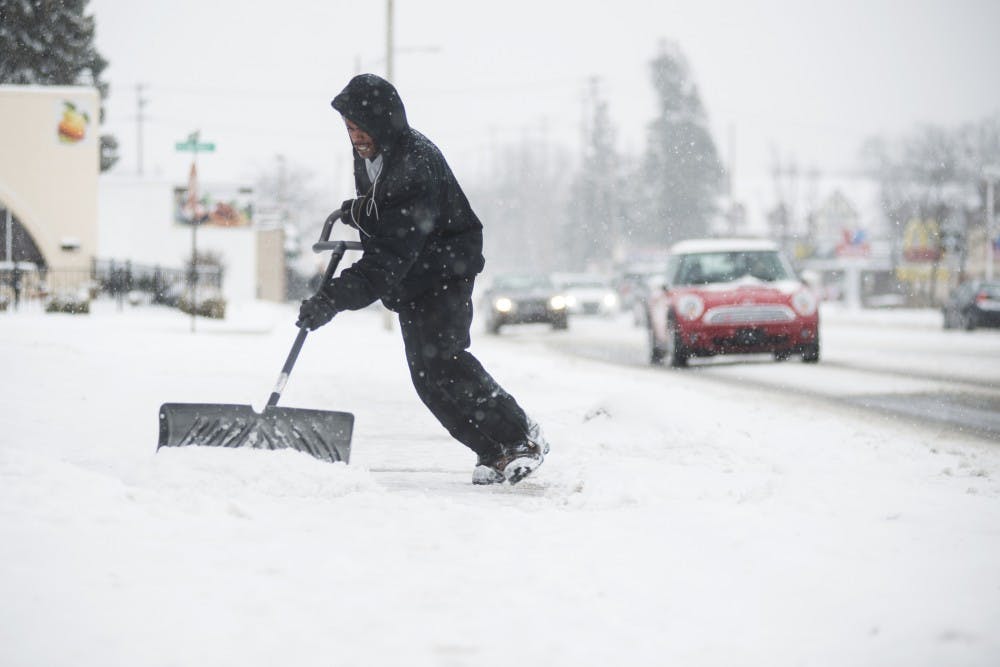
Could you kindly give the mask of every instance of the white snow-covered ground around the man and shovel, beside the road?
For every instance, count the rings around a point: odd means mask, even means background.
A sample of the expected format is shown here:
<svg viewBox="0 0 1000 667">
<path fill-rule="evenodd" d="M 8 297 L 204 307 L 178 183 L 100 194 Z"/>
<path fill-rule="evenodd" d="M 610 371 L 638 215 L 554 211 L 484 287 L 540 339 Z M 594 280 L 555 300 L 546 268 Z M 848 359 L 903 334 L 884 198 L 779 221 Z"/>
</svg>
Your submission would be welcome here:
<svg viewBox="0 0 1000 667">
<path fill-rule="evenodd" d="M 261 407 L 294 312 L 0 314 L 0 664 L 1000 664 L 981 438 L 477 332 L 553 451 L 473 487 L 365 311 L 282 400 L 355 413 L 349 466 L 156 453 L 162 402 Z"/>
</svg>

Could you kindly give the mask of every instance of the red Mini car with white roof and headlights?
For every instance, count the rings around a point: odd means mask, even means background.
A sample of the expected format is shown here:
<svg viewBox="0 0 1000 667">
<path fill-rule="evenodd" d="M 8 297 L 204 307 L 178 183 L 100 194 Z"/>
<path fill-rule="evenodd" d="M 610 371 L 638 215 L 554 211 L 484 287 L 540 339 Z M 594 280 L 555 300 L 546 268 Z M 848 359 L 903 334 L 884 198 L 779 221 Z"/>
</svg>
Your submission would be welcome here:
<svg viewBox="0 0 1000 667">
<path fill-rule="evenodd" d="M 647 308 L 654 364 L 753 353 L 819 361 L 819 301 L 770 241 L 675 244 Z"/>
</svg>

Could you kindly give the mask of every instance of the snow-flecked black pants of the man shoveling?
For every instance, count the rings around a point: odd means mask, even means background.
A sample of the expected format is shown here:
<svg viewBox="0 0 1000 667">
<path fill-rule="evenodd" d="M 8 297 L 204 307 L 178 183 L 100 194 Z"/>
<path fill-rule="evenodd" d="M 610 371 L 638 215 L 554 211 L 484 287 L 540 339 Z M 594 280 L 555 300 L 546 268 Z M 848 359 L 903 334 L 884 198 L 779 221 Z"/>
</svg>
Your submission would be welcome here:
<svg viewBox="0 0 1000 667">
<path fill-rule="evenodd" d="M 410 377 L 420 400 L 452 437 L 480 457 L 527 436 L 517 401 L 468 352 L 471 279 L 443 283 L 399 310 Z"/>
</svg>

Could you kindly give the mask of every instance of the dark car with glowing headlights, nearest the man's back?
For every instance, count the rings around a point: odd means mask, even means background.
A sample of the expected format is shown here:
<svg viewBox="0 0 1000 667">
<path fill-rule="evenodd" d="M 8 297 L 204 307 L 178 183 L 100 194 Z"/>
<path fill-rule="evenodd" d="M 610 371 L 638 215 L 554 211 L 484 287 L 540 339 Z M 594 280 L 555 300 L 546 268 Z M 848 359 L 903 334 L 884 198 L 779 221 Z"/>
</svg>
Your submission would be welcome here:
<svg viewBox="0 0 1000 667">
<path fill-rule="evenodd" d="M 541 274 L 502 274 L 494 277 L 484 294 L 486 329 L 500 333 L 509 324 L 551 324 L 553 329 L 569 325 L 566 298 L 552 279 Z"/>
</svg>

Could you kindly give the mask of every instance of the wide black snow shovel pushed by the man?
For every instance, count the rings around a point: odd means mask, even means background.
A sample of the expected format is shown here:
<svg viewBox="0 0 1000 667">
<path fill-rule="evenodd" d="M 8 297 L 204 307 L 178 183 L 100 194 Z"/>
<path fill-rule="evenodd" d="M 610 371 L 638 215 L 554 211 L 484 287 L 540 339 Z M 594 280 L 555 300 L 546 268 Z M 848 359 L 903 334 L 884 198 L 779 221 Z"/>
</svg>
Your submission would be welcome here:
<svg viewBox="0 0 1000 667">
<path fill-rule="evenodd" d="M 316 252 L 333 251 L 323 283 L 333 277 L 347 250 L 361 249 L 356 241 L 329 241 L 330 230 L 338 218 L 340 211 L 330 214 L 323 224 L 319 243 L 313 245 Z M 263 412 L 255 412 L 249 405 L 164 403 L 160 406 L 160 444 L 156 449 L 187 445 L 295 449 L 323 461 L 347 463 L 351 455 L 353 414 L 278 407 L 278 399 L 308 333 L 306 328 L 299 329 Z"/>
</svg>

